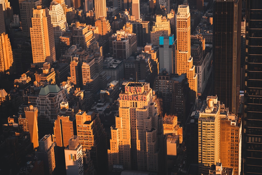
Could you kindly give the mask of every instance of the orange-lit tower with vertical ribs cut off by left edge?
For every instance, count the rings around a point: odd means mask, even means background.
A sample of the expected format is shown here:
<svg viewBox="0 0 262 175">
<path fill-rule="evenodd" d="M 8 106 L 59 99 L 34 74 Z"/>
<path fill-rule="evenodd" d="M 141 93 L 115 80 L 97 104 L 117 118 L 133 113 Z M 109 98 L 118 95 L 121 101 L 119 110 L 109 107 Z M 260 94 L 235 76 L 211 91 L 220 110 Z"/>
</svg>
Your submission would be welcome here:
<svg viewBox="0 0 262 175">
<path fill-rule="evenodd" d="M 13 52 L 6 33 L 0 35 L 0 73 L 13 72 Z"/>
</svg>

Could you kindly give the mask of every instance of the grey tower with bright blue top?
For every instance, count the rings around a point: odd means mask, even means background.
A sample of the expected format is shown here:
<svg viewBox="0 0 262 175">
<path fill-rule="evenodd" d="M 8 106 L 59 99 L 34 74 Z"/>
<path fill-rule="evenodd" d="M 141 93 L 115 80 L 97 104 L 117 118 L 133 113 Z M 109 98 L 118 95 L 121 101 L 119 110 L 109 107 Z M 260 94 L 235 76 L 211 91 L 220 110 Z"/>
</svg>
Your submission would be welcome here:
<svg viewBox="0 0 262 175">
<path fill-rule="evenodd" d="M 161 35 L 159 37 L 159 70 L 173 73 L 173 61 L 175 57 L 174 35 Z"/>
</svg>

